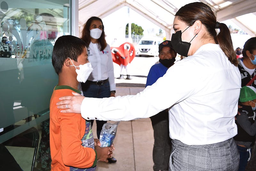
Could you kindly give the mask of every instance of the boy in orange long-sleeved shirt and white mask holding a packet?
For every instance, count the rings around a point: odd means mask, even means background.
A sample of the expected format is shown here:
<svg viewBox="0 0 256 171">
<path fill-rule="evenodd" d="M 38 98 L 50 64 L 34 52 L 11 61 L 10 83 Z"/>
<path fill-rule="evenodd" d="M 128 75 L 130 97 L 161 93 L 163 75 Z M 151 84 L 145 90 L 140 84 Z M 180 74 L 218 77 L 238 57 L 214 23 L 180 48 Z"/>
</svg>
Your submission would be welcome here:
<svg viewBox="0 0 256 171">
<path fill-rule="evenodd" d="M 114 147 L 100 147 L 93 139 L 91 123 L 75 113 L 61 113 L 56 103 L 62 96 L 81 93 L 77 86 L 92 72 L 83 40 L 72 35 L 61 36 L 55 42 L 52 65 L 59 76 L 50 101 L 51 170 L 94 171 L 97 160 L 108 162 Z M 68 108 L 68 105 L 67 105 Z M 77 169 L 79 168 L 79 169 Z"/>
</svg>

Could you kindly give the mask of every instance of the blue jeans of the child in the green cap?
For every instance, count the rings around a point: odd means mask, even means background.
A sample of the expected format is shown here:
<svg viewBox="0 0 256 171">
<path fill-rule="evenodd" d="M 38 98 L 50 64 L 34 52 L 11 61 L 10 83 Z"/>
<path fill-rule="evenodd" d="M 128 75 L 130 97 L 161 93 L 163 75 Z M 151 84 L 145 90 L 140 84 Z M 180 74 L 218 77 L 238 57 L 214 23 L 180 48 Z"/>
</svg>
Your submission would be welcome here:
<svg viewBox="0 0 256 171">
<path fill-rule="evenodd" d="M 241 147 L 239 145 L 236 145 L 236 146 L 237 146 L 237 150 L 238 150 L 239 155 L 240 155 L 238 171 L 244 171 L 245 167 L 248 163 L 248 160 L 250 158 L 250 150 L 251 149 Z"/>
</svg>

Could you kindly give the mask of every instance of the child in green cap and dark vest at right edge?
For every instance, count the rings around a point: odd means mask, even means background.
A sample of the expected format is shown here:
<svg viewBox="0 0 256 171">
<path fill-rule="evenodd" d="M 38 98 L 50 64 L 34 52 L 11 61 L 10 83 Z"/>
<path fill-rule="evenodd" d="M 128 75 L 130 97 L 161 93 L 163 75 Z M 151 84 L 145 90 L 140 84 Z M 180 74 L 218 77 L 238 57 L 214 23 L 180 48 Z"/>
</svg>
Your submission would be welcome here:
<svg viewBox="0 0 256 171">
<path fill-rule="evenodd" d="M 238 170 L 245 170 L 251 158 L 251 149 L 256 134 L 255 103 L 256 89 L 252 86 L 242 87 L 239 96 L 239 105 L 242 108 L 238 108 L 240 115 L 236 116 L 237 135 L 234 137 L 240 155 Z"/>
</svg>

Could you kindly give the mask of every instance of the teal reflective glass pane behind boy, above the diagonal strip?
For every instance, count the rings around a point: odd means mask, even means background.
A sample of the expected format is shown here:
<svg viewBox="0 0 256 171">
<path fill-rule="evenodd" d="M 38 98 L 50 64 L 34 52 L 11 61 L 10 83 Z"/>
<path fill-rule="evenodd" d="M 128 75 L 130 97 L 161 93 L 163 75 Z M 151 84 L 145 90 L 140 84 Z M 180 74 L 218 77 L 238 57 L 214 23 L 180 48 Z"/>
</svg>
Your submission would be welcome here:
<svg viewBox="0 0 256 171">
<path fill-rule="evenodd" d="M 19 8 L 22 2 L 28 8 Z M 11 3 L 18 8 L 10 8 Z M 69 8 L 63 5 L 67 2 L 61 5 L 38 1 L 36 6 L 31 3 L 0 3 L 0 79 L 5 81 L 5 85 L 0 84 L 0 106 L 5 108 L 0 113 L 3 128 L 49 108 L 57 83 L 52 67 L 53 45 L 59 36 L 70 34 Z M 17 101 L 25 110 L 15 108 Z"/>
</svg>

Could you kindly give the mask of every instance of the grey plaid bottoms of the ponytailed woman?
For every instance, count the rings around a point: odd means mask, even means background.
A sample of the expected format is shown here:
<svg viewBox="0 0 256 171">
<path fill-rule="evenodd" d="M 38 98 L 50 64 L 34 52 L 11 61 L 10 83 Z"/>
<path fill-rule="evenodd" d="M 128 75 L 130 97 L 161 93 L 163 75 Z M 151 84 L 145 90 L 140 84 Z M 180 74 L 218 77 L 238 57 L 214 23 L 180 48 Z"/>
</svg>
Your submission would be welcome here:
<svg viewBox="0 0 256 171">
<path fill-rule="evenodd" d="M 238 166 L 239 153 L 233 138 L 206 145 L 172 140 L 169 171 L 237 171 Z"/>
</svg>

